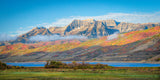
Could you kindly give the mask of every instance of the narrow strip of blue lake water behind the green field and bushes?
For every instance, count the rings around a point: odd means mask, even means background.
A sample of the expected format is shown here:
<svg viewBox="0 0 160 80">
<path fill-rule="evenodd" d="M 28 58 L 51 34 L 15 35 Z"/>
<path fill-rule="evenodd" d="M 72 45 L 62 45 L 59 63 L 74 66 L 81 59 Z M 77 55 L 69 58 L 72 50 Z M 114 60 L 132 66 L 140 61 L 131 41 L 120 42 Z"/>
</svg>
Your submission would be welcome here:
<svg viewBox="0 0 160 80">
<path fill-rule="evenodd" d="M 64 63 L 72 63 L 72 62 L 64 62 Z M 81 62 L 79 62 L 81 63 Z M 160 67 L 160 64 L 152 64 L 152 63 L 127 63 L 127 62 L 86 62 L 89 64 L 108 64 L 113 67 Z M 15 63 L 6 63 L 7 65 L 12 66 L 24 66 L 24 67 L 44 67 L 46 62 L 15 62 Z"/>
</svg>

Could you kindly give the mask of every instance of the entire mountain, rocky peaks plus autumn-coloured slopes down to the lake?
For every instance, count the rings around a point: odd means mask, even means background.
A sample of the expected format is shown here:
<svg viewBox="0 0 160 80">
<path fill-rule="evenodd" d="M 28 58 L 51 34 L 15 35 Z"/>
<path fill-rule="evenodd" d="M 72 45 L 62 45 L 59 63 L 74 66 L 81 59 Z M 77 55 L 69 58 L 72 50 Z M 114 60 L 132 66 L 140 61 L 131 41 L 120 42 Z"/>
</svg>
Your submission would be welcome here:
<svg viewBox="0 0 160 80">
<path fill-rule="evenodd" d="M 159 61 L 160 23 L 73 20 L 64 27 L 35 27 L 0 46 L 0 60 Z M 81 35 L 88 39 L 31 42 L 36 35 Z M 91 38 L 91 39 L 90 39 Z M 27 43 L 27 44 L 26 44 Z"/>
</svg>

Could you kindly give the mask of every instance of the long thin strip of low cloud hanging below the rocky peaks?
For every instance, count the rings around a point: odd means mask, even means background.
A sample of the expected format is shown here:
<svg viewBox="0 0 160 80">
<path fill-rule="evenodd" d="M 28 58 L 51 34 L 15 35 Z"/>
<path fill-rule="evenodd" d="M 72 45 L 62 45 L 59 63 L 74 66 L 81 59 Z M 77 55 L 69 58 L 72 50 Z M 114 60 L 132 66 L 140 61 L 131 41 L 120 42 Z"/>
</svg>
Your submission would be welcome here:
<svg viewBox="0 0 160 80">
<path fill-rule="evenodd" d="M 29 38 L 30 41 L 54 41 L 54 40 L 70 40 L 70 39 L 86 39 L 85 36 L 77 36 L 77 35 L 70 35 L 70 36 L 60 36 L 60 35 L 36 35 Z"/>
</svg>

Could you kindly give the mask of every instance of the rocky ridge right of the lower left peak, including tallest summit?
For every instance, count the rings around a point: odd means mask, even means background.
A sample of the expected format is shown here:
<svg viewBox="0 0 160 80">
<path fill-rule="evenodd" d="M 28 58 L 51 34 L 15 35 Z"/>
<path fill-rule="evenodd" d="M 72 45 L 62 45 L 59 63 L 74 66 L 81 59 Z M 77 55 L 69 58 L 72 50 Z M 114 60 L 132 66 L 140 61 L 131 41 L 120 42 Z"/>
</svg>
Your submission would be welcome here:
<svg viewBox="0 0 160 80">
<path fill-rule="evenodd" d="M 49 28 L 52 33 L 60 35 L 83 35 L 89 38 L 107 36 L 115 32 L 125 33 L 130 31 L 145 30 L 151 27 L 160 26 L 160 23 L 133 24 L 117 22 L 115 20 L 74 20 L 63 28 Z"/>
</svg>

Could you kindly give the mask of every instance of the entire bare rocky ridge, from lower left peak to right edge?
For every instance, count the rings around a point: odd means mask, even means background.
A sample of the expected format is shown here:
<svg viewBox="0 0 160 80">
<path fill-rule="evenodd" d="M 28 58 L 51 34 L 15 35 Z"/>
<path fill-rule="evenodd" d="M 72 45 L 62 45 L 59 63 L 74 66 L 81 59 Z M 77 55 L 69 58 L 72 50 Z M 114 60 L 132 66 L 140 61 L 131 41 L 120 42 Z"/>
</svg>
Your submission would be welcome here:
<svg viewBox="0 0 160 80">
<path fill-rule="evenodd" d="M 73 20 L 69 25 L 64 27 L 36 27 L 26 34 L 20 35 L 13 42 L 25 43 L 31 36 L 36 35 L 82 35 L 88 38 L 98 38 L 108 36 L 115 32 L 126 33 L 130 31 L 145 30 L 151 27 L 160 26 L 160 23 L 133 24 L 126 22 L 117 22 L 115 20 Z"/>
</svg>

